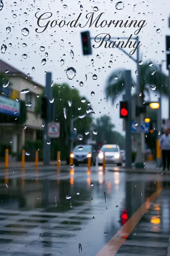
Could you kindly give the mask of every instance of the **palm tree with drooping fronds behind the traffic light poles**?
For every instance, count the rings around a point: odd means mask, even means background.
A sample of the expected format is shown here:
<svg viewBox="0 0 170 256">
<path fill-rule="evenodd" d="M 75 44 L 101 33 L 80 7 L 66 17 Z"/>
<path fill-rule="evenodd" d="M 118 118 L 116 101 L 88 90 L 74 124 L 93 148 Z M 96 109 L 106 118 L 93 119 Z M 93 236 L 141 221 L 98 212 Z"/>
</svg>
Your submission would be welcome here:
<svg viewBox="0 0 170 256">
<path fill-rule="evenodd" d="M 154 65 L 151 66 L 152 63 L 145 62 L 143 63 L 141 68 L 141 76 L 140 76 L 140 92 L 142 101 L 144 101 L 145 95 L 150 95 L 152 93 L 157 94 L 159 93 L 161 96 L 168 97 L 170 96 L 170 91 L 168 89 L 168 77 L 159 71 L 159 67 Z M 153 72 L 154 70 L 155 73 Z M 154 74 L 153 74 L 153 73 Z M 125 91 L 125 70 L 119 69 L 115 70 L 111 73 L 109 78 L 107 79 L 106 88 L 105 88 L 105 95 L 107 100 L 111 100 L 112 104 L 115 101 L 117 95 L 122 94 Z M 132 78 L 132 85 L 134 86 L 134 93 L 136 82 Z M 151 86 L 152 85 L 152 86 Z M 156 89 L 155 89 L 156 86 Z M 132 87 L 133 88 L 133 87 Z"/>
</svg>

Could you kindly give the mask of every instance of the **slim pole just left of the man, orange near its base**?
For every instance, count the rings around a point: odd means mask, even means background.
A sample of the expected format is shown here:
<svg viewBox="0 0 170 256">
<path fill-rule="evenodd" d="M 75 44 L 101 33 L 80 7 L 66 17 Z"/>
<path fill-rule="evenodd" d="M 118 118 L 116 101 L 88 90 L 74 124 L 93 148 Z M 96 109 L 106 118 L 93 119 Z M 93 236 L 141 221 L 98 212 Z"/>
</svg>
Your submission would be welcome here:
<svg viewBox="0 0 170 256">
<path fill-rule="evenodd" d="M 159 139 L 161 137 L 161 97 L 158 99 L 159 108 L 157 110 L 157 166 L 161 167 L 161 150 Z"/>
</svg>

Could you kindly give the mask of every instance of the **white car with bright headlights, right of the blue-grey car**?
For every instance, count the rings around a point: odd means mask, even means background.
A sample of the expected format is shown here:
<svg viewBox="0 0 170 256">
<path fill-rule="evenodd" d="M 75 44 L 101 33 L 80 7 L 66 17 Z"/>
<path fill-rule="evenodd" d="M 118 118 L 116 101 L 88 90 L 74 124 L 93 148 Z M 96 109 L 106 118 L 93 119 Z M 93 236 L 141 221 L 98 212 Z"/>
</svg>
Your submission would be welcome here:
<svg viewBox="0 0 170 256">
<path fill-rule="evenodd" d="M 103 145 L 98 153 L 98 164 L 103 164 L 103 153 L 105 152 L 105 163 L 116 164 L 121 166 L 123 163 L 121 151 L 116 144 Z"/>
</svg>

